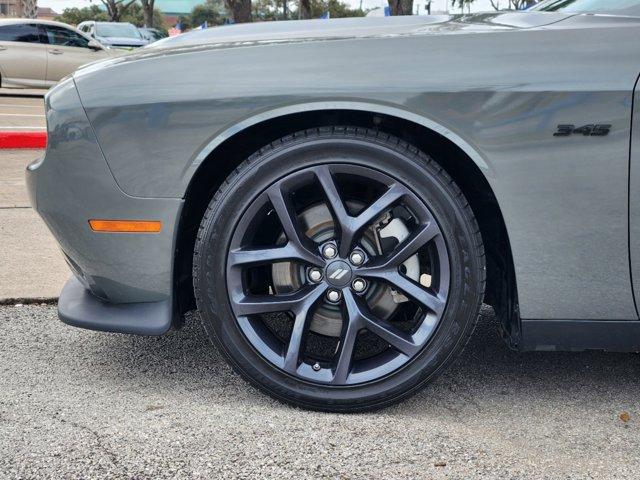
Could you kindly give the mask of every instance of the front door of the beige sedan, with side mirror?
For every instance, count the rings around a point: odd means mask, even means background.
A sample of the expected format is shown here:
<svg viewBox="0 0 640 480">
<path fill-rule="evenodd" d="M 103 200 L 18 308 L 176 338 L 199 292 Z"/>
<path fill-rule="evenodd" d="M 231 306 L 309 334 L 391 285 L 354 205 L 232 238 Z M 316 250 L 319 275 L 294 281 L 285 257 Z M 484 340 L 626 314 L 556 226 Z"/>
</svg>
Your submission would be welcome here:
<svg viewBox="0 0 640 480">
<path fill-rule="evenodd" d="M 46 81 L 54 84 L 79 66 L 107 56 L 106 50 L 89 48 L 89 39 L 70 28 L 42 25 L 49 42 Z"/>
</svg>

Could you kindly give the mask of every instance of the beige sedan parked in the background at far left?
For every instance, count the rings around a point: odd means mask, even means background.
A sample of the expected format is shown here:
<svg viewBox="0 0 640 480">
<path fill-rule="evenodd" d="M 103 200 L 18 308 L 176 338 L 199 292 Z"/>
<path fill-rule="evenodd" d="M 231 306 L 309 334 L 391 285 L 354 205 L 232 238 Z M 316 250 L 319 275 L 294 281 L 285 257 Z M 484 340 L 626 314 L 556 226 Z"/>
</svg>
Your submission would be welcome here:
<svg viewBox="0 0 640 480">
<path fill-rule="evenodd" d="M 99 42 L 64 23 L 0 20 L 3 87 L 50 87 L 80 65 L 109 56 Z"/>
</svg>

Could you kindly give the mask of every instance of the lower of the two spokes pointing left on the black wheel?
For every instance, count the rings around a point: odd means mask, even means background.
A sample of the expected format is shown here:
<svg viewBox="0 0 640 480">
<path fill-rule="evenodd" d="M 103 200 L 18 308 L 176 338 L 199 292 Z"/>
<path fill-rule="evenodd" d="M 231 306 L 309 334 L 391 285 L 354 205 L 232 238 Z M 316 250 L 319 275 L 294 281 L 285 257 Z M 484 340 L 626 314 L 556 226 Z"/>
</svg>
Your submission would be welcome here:
<svg viewBox="0 0 640 480">
<path fill-rule="evenodd" d="M 293 312 L 296 315 L 308 309 L 322 293 L 321 286 L 301 288 L 287 295 L 244 295 L 235 302 L 238 315 L 258 313 Z"/>
</svg>

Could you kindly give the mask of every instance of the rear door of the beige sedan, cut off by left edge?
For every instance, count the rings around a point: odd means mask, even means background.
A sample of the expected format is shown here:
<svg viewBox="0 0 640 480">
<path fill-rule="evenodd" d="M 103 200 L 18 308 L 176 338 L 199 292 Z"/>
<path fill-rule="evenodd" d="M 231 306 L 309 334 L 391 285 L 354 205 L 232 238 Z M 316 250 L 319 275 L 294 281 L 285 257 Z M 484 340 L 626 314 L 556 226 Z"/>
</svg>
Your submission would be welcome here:
<svg viewBox="0 0 640 480">
<path fill-rule="evenodd" d="M 46 85 L 46 40 L 34 23 L 0 25 L 0 75 L 2 86 Z"/>
</svg>

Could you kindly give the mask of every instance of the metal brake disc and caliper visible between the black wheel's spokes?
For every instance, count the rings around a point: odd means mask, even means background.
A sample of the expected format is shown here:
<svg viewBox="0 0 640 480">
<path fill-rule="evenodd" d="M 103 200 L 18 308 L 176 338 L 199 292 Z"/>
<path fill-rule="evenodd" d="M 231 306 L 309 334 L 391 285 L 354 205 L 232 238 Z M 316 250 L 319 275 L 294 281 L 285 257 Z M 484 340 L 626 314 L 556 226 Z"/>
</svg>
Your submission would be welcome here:
<svg viewBox="0 0 640 480">
<path fill-rule="evenodd" d="M 350 209 L 359 211 L 363 204 L 359 202 L 347 202 Z M 305 209 L 298 216 L 300 225 L 306 235 L 316 243 L 323 243 L 334 238 L 334 222 L 331 212 L 324 203 L 318 203 Z M 409 235 L 409 230 L 402 220 L 394 218 L 386 222 L 382 228 L 376 225 L 368 228 L 360 242 L 360 246 L 371 257 L 380 255 L 381 238 L 395 238 L 398 243 Z M 279 241 L 284 242 L 286 237 L 281 234 Z M 420 264 L 417 255 L 409 258 L 405 263 L 405 275 L 414 281 L 420 277 Z M 306 283 L 304 266 L 295 262 L 274 263 L 271 268 L 273 287 L 277 294 L 290 293 L 300 289 Z M 383 318 L 389 319 L 398 308 L 398 304 L 406 301 L 406 298 L 395 292 L 390 287 L 374 283 L 366 294 L 367 304 L 372 312 Z M 342 312 L 337 305 L 323 301 L 316 308 L 311 319 L 309 329 L 315 333 L 330 337 L 339 337 L 342 331 Z"/>
</svg>

